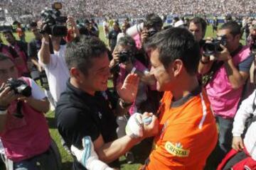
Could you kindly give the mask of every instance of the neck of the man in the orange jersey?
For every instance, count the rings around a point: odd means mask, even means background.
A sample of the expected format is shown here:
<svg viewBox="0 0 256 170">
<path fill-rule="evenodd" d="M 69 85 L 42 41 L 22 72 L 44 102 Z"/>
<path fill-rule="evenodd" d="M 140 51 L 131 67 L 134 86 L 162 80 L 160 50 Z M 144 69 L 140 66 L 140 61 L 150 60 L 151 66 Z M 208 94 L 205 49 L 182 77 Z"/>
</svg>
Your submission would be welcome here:
<svg viewBox="0 0 256 170">
<path fill-rule="evenodd" d="M 171 90 L 171 93 L 174 96 L 174 101 L 178 101 L 179 99 L 188 96 L 188 94 L 191 94 L 191 91 L 196 89 L 197 86 L 199 86 L 199 84 L 196 76 L 183 80 L 181 84 L 178 84 L 177 88 Z"/>
</svg>

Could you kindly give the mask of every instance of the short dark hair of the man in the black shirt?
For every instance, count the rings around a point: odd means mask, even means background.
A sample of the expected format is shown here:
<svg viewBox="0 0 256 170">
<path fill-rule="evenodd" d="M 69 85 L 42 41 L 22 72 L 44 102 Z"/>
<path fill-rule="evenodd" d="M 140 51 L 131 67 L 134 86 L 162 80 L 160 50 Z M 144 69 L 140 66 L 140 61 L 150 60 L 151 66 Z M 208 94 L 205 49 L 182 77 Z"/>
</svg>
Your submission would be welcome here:
<svg viewBox="0 0 256 170">
<path fill-rule="evenodd" d="M 87 75 L 88 69 L 92 67 L 92 59 L 102 57 L 105 52 L 107 47 L 102 40 L 95 36 L 81 35 L 67 44 L 65 62 L 68 69 L 75 67 Z"/>
</svg>

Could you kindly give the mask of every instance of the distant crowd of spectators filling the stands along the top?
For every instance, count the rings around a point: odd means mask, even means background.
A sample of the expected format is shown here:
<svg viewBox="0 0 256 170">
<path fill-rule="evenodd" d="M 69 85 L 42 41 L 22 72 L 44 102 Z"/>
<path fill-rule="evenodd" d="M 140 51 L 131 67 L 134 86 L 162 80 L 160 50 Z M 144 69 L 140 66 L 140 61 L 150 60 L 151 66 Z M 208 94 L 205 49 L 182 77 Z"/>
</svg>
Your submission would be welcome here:
<svg viewBox="0 0 256 170">
<path fill-rule="evenodd" d="M 253 2 L 235 0 L 176 0 L 176 1 L 82 1 L 82 0 L 61 0 L 63 4 L 63 14 L 69 13 L 75 18 L 83 17 L 142 17 L 154 11 L 159 15 L 235 15 L 249 14 L 253 11 Z M 40 12 L 45 7 L 50 7 L 52 1 L 39 0 L 3 0 L 0 2 L 1 8 L 6 8 L 11 16 L 22 16 L 31 14 L 34 18 L 40 16 Z M 29 4 L 29 5 L 26 5 Z M 48 4 L 46 6 L 46 4 Z"/>
</svg>

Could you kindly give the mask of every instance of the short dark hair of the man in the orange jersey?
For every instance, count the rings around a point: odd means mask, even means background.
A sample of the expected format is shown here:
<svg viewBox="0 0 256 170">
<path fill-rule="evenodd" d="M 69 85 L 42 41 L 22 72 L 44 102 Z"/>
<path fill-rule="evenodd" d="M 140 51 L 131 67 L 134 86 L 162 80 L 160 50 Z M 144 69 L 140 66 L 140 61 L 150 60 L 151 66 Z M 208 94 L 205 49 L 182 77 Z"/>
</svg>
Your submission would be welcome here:
<svg viewBox="0 0 256 170">
<path fill-rule="evenodd" d="M 196 74 L 200 59 L 198 42 L 186 28 L 170 28 L 156 33 L 146 48 L 159 50 L 159 60 L 165 68 L 174 60 L 182 60 L 188 74 Z"/>
</svg>

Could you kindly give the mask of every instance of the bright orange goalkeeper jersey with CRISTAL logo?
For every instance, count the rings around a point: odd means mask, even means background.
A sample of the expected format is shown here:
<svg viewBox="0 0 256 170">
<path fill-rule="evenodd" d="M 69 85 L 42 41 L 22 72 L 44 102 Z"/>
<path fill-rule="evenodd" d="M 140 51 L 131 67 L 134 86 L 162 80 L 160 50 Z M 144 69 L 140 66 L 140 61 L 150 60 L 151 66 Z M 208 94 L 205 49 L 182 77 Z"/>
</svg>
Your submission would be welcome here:
<svg viewBox="0 0 256 170">
<path fill-rule="evenodd" d="M 198 87 L 178 101 L 172 98 L 166 91 L 161 100 L 159 135 L 144 169 L 203 169 L 218 140 L 206 92 Z"/>
</svg>

